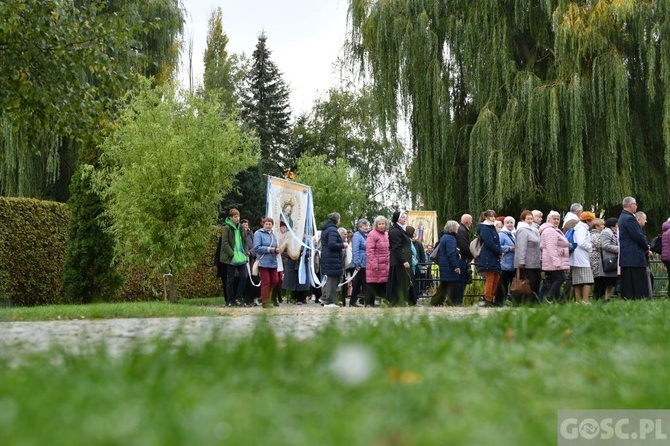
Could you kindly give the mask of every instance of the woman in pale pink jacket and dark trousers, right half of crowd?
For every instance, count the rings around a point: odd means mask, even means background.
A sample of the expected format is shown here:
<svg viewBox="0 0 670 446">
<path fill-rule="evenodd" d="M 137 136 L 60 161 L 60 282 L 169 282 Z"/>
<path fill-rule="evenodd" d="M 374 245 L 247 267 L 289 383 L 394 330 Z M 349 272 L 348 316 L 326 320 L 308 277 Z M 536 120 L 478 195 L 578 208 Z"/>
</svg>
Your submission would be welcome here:
<svg viewBox="0 0 670 446">
<path fill-rule="evenodd" d="M 565 272 L 570 269 L 570 242 L 563 235 L 563 231 L 559 229 L 560 223 L 560 214 L 551 211 L 547 215 L 547 222 L 540 226 L 545 298 L 549 302 L 560 300 L 561 285 L 565 282 Z"/>
</svg>

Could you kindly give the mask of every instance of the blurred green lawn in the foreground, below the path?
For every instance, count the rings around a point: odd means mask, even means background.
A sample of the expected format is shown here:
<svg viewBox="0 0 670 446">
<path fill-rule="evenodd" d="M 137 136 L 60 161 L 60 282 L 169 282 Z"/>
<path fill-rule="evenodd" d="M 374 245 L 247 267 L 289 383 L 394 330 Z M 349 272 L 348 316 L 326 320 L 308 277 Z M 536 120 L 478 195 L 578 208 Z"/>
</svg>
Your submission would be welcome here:
<svg viewBox="0 0 670 446">
<path fill-rule="evenodd" d="M 259 317 L 199 345 L 26 354 L 0 360 L 0 444 L 555 444 L 558 409 L 667 407 L 669 305 L 334 316 L 306 341 Z M 352 347 L 373 364 L 356 384 L 333 370 Z"/>
</svg>

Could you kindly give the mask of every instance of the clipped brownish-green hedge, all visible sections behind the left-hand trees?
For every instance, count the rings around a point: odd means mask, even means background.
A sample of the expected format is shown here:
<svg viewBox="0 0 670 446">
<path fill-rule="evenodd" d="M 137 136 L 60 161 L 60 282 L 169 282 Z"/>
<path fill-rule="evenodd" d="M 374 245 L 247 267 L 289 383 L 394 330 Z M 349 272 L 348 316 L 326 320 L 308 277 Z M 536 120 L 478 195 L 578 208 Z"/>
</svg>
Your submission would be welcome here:
<svg viewBox="0 0 670 446">
<path fill-rule="evenodd" d="M 61 276 L 67 249 L 67 205 L 26 198 L 0 197 L 0 298 L 12 305 L 46 305 L 64 302 Z M 181 298 L 221 294 L 221 281 L 212 272 L 218 227 L 205 257 L 176 277 Z M 160 277 L 146 271 L 123 269 L 120 301 L 163 298 Z"/>
</svg>

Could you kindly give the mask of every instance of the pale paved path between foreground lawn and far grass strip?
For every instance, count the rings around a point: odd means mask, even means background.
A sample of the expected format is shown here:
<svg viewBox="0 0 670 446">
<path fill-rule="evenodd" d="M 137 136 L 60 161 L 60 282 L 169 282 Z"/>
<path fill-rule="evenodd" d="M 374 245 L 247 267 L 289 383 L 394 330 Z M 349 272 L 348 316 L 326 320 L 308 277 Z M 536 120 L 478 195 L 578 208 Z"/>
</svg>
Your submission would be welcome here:
<svg viewBox="0 0 670 446">
<path fill-rule="evenodd" d="M 0 322 L 0 357 L 16 359 L 23 353 L 47 350 L 57 346 L 78 353 L 104 346 L 117 355 L 138 341 L 171 338 L 197 343 L 213 333 L 243 336 L 253 331 L 255 324 L 268 317 L 278 336 L 291 334 L 307 339 L 328 321 L 365 320 L 374 323 L 382 317 L 411 318 L 427 315 L 431 318 L 459 318 L 474 314 L 490 314 L 492 309 L 463 308 L 323 308 L 321 305 L 283 304 L 277 308 L 220 308 L 221 317 L 149 318 L 63 320 L 40 322 Z"/>
</svg>

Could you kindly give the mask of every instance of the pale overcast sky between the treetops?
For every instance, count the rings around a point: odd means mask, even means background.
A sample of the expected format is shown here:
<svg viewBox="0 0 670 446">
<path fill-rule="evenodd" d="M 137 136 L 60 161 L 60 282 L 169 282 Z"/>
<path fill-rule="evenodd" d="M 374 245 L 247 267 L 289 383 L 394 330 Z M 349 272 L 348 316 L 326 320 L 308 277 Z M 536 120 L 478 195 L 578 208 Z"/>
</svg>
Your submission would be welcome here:
<svg viewBox="0 0 670 446">
<path fill-rule="evenodd" d="M 193 39 L 195 84 L 202 84 L 207 22 L 220 7 L 229 53 L 254 51 L 265 31 L 271 59 L 291 89 L 293 115 L 337 85 L 333 63 L 346 34 L 347 0 L 182 0 L 188 11 L 185 40 Z M 186 85 L 186 70 L 180 79 Z"/>
</svg>

